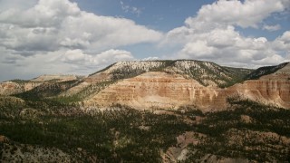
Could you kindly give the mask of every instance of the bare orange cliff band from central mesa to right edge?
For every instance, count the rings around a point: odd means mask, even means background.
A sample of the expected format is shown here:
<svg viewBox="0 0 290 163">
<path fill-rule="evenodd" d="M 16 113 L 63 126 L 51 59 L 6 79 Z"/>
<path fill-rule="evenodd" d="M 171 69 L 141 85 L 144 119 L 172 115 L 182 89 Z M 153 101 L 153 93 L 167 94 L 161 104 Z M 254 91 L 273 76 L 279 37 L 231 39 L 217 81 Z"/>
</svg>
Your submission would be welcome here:
<svg viewBox="0 0 290 163">
<path fill-rule="evenodd" d="M 203 111 L 227 109 L 227 98 L 239 97 L 251 101 L 290 108 L 290 64 L 277 72 L 237 83 L 226 89 L 204 86 L 183 75 L 169 72 L 146 72 L 137 77 L 116 82 L 84 101 L 86 107 L 114 104 L 138 109 L 178 109 L 194 105 Z"/>
</svg>

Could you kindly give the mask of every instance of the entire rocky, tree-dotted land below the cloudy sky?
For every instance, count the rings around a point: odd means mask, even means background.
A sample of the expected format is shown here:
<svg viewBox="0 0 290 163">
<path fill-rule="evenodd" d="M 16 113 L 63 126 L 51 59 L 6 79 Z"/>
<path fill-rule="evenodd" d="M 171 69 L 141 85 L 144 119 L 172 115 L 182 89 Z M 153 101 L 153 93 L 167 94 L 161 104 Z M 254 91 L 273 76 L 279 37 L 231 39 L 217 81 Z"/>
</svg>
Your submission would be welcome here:
<svg viewBox="0 0 290 163">
<path fill-rule="evenodd" d="M 290 63 L 116 62 L 0 83 L 0 162 L 286 162 Z"/>
</svg>

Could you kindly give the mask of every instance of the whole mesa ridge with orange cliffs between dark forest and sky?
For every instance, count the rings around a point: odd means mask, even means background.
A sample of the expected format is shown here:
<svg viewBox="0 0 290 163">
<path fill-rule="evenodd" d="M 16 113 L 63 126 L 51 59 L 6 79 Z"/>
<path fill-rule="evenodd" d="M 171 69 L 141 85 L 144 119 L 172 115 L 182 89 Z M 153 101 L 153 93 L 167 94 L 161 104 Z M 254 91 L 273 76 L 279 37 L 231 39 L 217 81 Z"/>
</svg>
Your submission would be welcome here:
<svg viewBox="0 0 290 163">
<path fill-rule="evenodd" d="M 43 75 L 30 81 L 2 82 L 0 92 L 24 99 L 82 102 L 84 107 L 97 108 L 121 104 L 177 109 L 194 105 L 205 111 L 224 110 L 232 96 L 287 108 L 288 67 L 287 62 L 257 70 L 195 60 L 116 62 L 84 78 Z M 281 75 L 285 82 L 281 82 Z"/>
</svg>

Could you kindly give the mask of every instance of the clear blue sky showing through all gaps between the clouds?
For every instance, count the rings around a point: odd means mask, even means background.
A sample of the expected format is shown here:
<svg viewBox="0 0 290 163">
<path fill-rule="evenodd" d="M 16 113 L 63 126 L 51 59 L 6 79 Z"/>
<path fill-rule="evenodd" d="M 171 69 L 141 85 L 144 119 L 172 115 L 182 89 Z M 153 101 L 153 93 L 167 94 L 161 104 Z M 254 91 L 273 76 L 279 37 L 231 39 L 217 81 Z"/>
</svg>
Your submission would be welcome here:
<svg viewBox="0 0 290 163">
<path fill-rule="evenodd" d="M 275 0 L 274 0 L 275 1 Z M 133 20 L 136 24 L 146 25 L 152 29 L 162 32 L 168 32 L 173 28 L 184 24 L 185 19 L 194 16 L 202 5 L 211 5 L 215 0 L 73 0 L 82 10 L 94 14 L 124 17 Z M 122 5 L 121 5 L 122 4 Z M 125 10 L 123 6 L 128 6 Z M 140 11 L 134 12 L 135 7 Z M 284 18 L 282 18 L 284 16 Z M 278 17 L 278 18 L 277 18 Z M 266 17 L 265 24 L 280 24 L 281 29 L 277 31 L 260 30 L 255 28 L 240 28 L 242 34 L 251 36 L 265 36 L 269 40 L 274 40 L 285 30 L 289 30 L 290 16 L 289 13 L 281 15 L 274 13 Z"/>
</svg>

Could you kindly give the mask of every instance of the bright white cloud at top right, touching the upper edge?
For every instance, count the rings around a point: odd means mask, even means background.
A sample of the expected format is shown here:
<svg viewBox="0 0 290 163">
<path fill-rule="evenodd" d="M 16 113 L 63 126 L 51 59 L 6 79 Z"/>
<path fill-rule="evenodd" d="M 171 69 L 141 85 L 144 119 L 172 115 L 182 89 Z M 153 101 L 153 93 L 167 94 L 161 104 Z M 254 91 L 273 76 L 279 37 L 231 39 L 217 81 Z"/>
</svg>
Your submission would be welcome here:
<svg viewBox="0 0 290 163">
<path fill-rule="evenodd" d="M 275 12 L 282 12 L 288 7 L 286 0 L 219 0 L 212 5 L 203 5 L 198 15 L 186 20 L 192 28 L 204 24 L 231 24 L 241 27 L 257 28 L 258 24 Z M 215 25 L 216 26 L 216 25 Z"/>
</svg>

